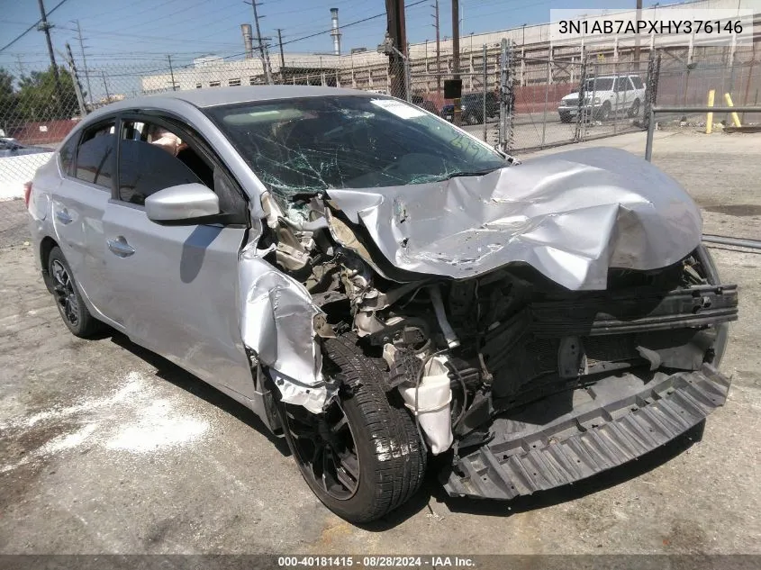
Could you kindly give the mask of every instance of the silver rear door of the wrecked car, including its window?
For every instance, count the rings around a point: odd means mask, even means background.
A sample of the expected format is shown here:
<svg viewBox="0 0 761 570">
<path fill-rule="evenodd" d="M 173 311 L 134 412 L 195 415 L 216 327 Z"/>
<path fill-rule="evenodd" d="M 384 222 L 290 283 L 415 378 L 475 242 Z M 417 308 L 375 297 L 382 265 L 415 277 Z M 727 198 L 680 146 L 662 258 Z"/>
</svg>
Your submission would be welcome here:
<svg viewBox="0 0 761 570">
<path fill-rule="evenodd" d="M 82 132 L 73 168 L 62 172 L 52 193 L 52 222 L 56 238 L 74 273 L 81 293 L 95 314 L 110 320 L 104 305 L 103 216 L 111 198 L 116 152 L 114 120 L 98 122 Z M 62 151 L 71 152 L 68 147 Z"/>
</svg>

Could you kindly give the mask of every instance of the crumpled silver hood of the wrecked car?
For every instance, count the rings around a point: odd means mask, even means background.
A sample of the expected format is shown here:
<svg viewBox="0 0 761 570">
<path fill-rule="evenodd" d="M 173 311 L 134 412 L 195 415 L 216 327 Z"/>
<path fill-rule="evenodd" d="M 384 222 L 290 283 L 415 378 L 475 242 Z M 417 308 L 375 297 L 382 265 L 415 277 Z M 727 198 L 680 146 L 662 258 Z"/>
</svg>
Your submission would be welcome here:
<svg viewBox="0 0 761 570">
<path fill-rule="evenodd" d="M 578 149 L 485 176 L 327 191 L 395 267 L 457 279 L 525 262 L 574 290 L 604 289 L 610 267 L 666 267 L 701 240 L 674 179 L 620 149 Z"/>
</svg>

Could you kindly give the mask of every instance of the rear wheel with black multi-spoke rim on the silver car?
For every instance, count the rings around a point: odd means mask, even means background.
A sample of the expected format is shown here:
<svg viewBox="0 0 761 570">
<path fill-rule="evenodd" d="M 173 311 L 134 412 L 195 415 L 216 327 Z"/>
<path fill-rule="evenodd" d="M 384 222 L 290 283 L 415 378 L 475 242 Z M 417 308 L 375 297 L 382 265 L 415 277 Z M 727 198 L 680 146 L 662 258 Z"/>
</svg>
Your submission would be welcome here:
<svg viewBox="0 0 761 570">
<path fill-rule="evenodd" d="M 53 285 L 53 297 L 64 324 L 75 337 L 87 339 L 103 329 L 101 321 L 95 319 L 87 309 L 77 281 L 68 267 L 68 261 L 58 246 L 50 249 L 48 275 Z"/>
</svg>

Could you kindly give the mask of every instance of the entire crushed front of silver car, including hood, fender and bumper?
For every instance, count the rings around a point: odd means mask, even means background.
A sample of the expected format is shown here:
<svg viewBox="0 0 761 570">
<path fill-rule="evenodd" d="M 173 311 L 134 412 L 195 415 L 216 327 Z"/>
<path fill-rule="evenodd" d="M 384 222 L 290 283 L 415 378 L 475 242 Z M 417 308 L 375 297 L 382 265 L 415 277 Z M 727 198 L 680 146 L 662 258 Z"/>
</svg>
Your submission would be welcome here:
<svg viewBox="0 0 761 570">
<path fill-rule="evenodd" d="M 341 390 L 322 374 L 320 343 L 358 339 L 428 451 L 452 457 L 451 495 L 572 483 L 727 398 L 717 366 L 737 286 L 720 283 L 684 190 L 626 153 L 265 206 L 257 257 L 299 299 L 267 304 L 273 322 L 290 320 L 261 357 L 285 377 L 283 401 L 319 414 Z M 294 357 L 306 373 L 279 369 Z"/>
</svg>

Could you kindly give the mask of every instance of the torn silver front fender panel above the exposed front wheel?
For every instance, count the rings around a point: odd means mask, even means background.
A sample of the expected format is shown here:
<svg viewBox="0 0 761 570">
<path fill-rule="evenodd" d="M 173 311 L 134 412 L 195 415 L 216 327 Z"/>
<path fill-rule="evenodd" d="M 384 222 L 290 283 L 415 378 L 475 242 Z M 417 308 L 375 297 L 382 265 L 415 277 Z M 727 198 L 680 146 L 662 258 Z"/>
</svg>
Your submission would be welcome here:
<svg viewBox="0 0 761 570">
<path fill-rule="evenodd" d="M 283 402 L 322 412 L 337 386 L 322 377 L 314 319 L 322 312 L 309 292 L 259 257 L 255 244 L 240 252 L 240 333 L 269 367 Z"/>
</svg>

